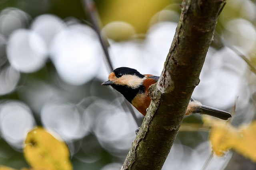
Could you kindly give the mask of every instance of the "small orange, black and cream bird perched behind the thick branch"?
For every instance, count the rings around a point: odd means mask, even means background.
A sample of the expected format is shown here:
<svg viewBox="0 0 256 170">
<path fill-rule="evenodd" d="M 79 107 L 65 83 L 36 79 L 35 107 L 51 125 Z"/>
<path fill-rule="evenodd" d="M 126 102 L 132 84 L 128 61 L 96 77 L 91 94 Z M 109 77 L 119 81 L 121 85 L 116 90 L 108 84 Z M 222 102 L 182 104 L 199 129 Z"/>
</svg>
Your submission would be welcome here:
<svg viewBox="0 0 256 170">
<path fill-rule="evenodd" d="M 101 85 L 110 86 L 120 92 L 128 102 L 145 116 L 151 102 L 148 88 L 155 84 L 158 79 L 159 76 L 140 74 L 133 68 L 120 67 L 113 70 L 108 76 L 108 81 L 103 82 Z M 228 120 L 231 117 L 231 114 L 226 111 L 204 106 L 190 98 L 185 115 L 192 113 L 211 115 L 223 120 Z"/>
</svg>

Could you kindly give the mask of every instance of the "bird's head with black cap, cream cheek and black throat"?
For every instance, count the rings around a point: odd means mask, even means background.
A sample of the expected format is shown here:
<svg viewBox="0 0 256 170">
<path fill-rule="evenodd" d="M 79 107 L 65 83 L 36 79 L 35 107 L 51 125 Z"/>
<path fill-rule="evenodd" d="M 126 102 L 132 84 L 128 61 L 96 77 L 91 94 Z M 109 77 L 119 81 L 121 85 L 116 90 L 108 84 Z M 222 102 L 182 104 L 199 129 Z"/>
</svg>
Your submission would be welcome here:
<svg viewBox="0 0 256 170">
<path fill-rule="evenodd" d="M 143 74 L 133 68 L 119 67 L 113 70 L 108 76 L 108 81 L 101 85 L 111 86 L 131 102 L 138 93 L 145 91 L 144 78 Z"/>
</svg>

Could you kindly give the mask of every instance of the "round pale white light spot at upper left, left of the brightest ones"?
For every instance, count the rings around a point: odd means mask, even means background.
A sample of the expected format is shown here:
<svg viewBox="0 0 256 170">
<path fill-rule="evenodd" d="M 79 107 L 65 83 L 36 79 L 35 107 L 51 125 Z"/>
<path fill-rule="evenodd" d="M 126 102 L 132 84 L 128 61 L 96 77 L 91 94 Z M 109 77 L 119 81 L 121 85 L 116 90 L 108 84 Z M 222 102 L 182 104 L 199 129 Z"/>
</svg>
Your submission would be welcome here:
<svg viewBox="0 0 256 170">
<path fill-rule="evenodd" d="M 47 48 L 38 33 L 28 29 L 17 29 L 7 43 L 7 57 L 13 68 L 20 72 L 35 72 L 47 59 Z"/>
</svg>

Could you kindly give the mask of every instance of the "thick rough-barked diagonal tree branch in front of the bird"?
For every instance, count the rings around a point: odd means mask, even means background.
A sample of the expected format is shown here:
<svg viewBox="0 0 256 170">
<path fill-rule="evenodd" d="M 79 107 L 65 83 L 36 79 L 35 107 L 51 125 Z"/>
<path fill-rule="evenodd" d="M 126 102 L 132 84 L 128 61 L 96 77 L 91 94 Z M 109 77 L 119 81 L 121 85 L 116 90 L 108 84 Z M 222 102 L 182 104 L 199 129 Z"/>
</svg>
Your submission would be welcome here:
<svg viewBox="0 0 256 170">
<path fill-rule="evenodd" d="M 170 152 L 214 36 L 225 0 L 183 0 L 164 69 L 121 170 L 160 170 Z"/>
</svg>

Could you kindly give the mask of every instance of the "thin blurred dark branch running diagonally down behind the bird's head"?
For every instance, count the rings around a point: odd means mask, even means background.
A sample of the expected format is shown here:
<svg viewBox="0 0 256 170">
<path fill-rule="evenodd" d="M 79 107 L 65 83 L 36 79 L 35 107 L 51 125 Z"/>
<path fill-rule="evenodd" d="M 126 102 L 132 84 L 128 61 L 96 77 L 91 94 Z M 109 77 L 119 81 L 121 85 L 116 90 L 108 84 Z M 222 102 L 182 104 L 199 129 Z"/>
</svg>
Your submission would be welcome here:
<svg viewBox="0 0 256 170">
<path fill-rule="evenodd" d="M 108 53 L 109 43 L 108 43 L 108 40 L 106 39 L 106 37 L 104 37 L 104 35 L 102 35 L 102 33 L 101 33 L 100 19 L 99 19 L 99 15 L 98 15 L 96 6 L 92 0 L 82 0 L 82 2 L 84 3 L 84 11 L 88 12 L 88 15 L 90 17 L 90 20 L 92 22 L 94 30 L 96 31 L 98 38 L 100 40 L 100 44 L 102 46 L 106 61 L 108 63 L 108 68 L 110 69 L 110 72 L 112 72 L 112 70 L 114 70 L 114 67 L 111 62 L 110 55 Z M 122 96 L 120 94 L 118 94 L 118 95 Z M 122 96 L 122 97 L 124 97 L 124 96 Z M 132 105 L 127 100 L 124 100 L 124 104 L 122 104 L 122 107 L 123 107 L 123 109 L 128 108 L 128 110 L 132 114 L 132 117 L 136 121 L 138 127 L 140 127 L 141 121 L 136 117 L 136 114 L 132 108 Z"/>
</svg>

